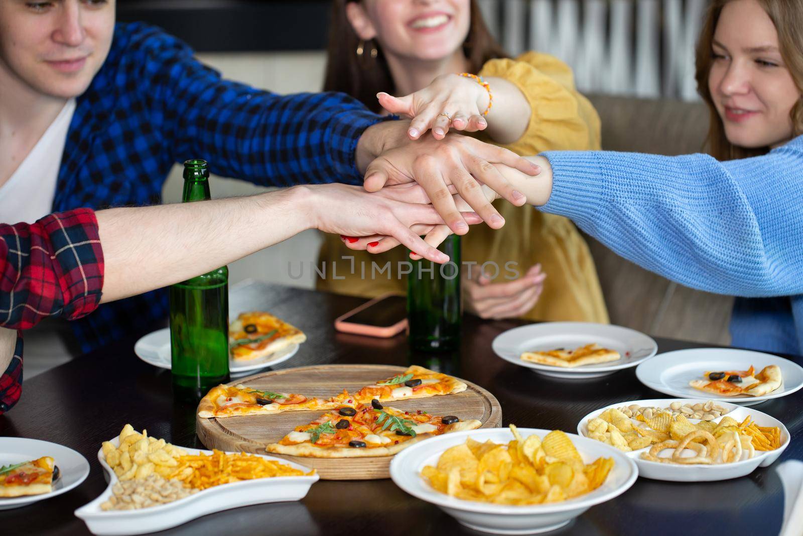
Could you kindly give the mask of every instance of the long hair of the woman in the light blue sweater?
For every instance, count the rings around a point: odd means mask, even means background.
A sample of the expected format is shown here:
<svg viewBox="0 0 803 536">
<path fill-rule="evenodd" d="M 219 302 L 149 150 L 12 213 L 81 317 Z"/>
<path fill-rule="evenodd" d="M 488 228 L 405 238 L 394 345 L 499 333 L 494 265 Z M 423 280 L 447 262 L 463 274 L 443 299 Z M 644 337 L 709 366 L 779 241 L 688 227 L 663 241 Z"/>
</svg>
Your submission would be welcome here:
<svg viewBox="0 0 803 536">
<path fill-rule="evenodd" d="M 711 71 L 713 58 L 711 57 L 711 43 L 714 40 L 716 23 L 722 8 L 732 0 L 712 0 L 708 6 L 703 30 L 697 43 L 697 58 L 695 79 L 697 92 L 708 105 L 710 123 L 708 127 L 708 152 L 718 160 L 734 160 L 748 158 L 767 153 L 769 147 L 740 147 L 733 145 L 725 136 L 725 128 L 719 117 L 708 88 L 708 73 Z M 781 57 L 784 59 L 789 73 L 797 86 L 797 91 L 803 95 L 803 2 L 800 0 L 756 0 L 769 15 L 772 24 L 778 32 L 778 43 Z M 793 135 L 803 134 L 803 96 L 797 100 L 790 113 L 793 125 Z"/>
</svg>

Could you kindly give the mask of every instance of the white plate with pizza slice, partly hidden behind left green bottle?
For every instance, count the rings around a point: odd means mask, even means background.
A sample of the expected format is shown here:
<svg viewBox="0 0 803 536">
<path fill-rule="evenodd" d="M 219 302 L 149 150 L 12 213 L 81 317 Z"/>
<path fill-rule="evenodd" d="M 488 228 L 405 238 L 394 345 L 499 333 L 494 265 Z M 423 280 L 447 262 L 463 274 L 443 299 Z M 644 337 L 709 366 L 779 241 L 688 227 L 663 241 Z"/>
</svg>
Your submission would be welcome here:
<svg viewBox="0 0 803 536">
<path fill-rule="evenodd" d="M 296 326 L 261 311 L 240 313 L 229 325 L 229 371 L 242 375 L 287 361 L 307 336 Z M 170 369 L 170 329 L 158 329 L 134 345 L 142 361 Z"/>
</svg>

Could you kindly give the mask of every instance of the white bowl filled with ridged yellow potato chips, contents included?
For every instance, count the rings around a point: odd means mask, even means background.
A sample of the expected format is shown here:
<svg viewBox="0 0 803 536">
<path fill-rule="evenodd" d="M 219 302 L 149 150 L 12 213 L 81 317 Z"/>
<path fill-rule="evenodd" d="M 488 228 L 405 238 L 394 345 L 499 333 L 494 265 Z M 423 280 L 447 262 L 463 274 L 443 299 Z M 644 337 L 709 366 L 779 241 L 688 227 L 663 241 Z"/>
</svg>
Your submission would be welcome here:
<svg viewBox="0 0 803 536">
<path fill-rule="evenodd" d="M 390 463 L 390 478 L 407 493 L 495 534 L 555 530 L 637 477 L 634 461 L 616 448 L 513 425 L 433 437 Z"/>
</svg>

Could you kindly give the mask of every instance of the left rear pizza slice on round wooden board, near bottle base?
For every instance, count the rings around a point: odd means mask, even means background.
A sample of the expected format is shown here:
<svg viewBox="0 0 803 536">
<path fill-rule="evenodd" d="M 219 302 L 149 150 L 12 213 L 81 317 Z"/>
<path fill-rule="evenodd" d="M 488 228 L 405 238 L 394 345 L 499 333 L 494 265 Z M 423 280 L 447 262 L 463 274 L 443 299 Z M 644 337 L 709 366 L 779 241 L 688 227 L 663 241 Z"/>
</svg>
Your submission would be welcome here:
<svg viewBox="0 0 803 536">
<path fill-rule="evenodd" d="M 348 399 L 347 399 L 348 400 Z M 235 417 L 242 415 L 271 415 L 281 411 L 327 410 L 338 403 L 309 398 L 296 393 L 277 393 L 246 387 L 242 383 L 212 387 L 198 403 L 198 416 Z"/>
</svg>

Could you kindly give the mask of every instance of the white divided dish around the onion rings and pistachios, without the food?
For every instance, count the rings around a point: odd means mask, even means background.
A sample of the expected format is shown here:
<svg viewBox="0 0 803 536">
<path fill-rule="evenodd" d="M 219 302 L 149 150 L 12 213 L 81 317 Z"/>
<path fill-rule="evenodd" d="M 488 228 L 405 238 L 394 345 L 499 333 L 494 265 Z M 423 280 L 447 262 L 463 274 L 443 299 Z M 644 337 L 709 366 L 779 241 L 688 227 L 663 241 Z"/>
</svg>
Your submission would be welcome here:
<svg viewBox="0 0 803 536">
<path fill-rule="evenodd" d="M 577 423 L 577 433 L 581 436 L 586 436 L 589 433 L 588 423 L 589 419 L 593 419 L 601 415 L 603 411 L 609 407 L 622 407 L 630 406 L 631 404 L 638 404 L 645 407 L 669 407 L 673 402 L 679 403 L 705 403 L 707 398 L 702 399 L 651 399 L 651 400 L 634 400 L 632 402 L 621 402 L 605 406 L 597 411 L 592 411 L 589 415 L 585 415 L 580 423 Z M 638 465 L 638 474 L 641 477 L 652 478 L 659 481 L 670 482 L 709 482 L 709 481 L 725 481 L 731 478 L 744 477 L 752 473 L 756 467 L 767 467 L 781 456 L 785 448 L 789 446 L 789 430 L 786 429 L 780 420 L 738 404 L 728 402 L 717 402 L 719 406 L 727 407 L 731 411 L 714 419 L 714 422 L 719 423 L 724 417 L 732 417 L 739 422 L 742 422 L 748 415 L 758 423 L 759 426 L 777 426 L 781 428 L 781 447 L 771 451 L 756 451 L 756 456 L 749 460 L 737 461 L 732 464 L 715 464 L 715 465 L 681 465 L 681 464 L 662 464 L 658 461 L 642 460 L 642 452 L 650 450 L 649 447 L 640 448 L 632 452 L 623 452 L 636 461 Z M 692 423 L 699 423 L 697 419 L 689 419 Z M 633 423 L 638 423 L 634 420 Z"/>
</svg>

